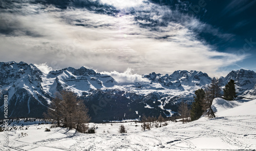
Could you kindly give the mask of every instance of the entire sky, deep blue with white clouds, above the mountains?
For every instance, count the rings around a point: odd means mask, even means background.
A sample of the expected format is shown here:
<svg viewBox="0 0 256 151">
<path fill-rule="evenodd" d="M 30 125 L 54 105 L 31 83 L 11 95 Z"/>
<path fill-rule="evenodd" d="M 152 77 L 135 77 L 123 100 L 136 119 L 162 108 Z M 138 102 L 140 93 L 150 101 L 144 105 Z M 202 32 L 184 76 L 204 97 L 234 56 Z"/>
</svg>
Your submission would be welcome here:
<svg viewBox="0 0 256 151">
<path fill-rule="evenodd" d="M 0 61 L 44 72 L 256 71 L 256 1 L 22 0 L 0 2 Z"/>
</svg>

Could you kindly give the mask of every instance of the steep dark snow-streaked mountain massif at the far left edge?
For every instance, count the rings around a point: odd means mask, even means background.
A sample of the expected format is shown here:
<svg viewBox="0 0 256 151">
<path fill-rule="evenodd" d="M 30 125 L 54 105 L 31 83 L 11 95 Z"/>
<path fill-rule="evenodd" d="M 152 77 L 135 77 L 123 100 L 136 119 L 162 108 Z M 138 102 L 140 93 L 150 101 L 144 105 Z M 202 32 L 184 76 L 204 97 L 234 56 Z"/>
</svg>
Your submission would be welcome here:
<svg viewBox="0 0 256 151">
<path fill-rule="evenodd" d="M 42 72 L 25 62 L 1 62 L 0 69 L 0 93 L 1 97 L 8 95 L 8 115 L 42 117 L 50 103 L 49 94 L 41 86 Z M 2 112 L 3 103 L 0 104 Z"/>
</svg>

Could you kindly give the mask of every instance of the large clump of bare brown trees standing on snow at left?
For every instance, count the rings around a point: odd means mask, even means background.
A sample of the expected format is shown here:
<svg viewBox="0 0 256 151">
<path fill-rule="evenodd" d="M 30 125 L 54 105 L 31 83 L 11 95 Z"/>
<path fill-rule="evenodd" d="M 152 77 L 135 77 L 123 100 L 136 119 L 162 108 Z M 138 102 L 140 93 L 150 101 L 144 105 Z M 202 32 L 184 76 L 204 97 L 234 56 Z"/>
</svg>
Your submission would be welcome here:
<svg viewBox="0 0 256 151">
<path fill-rule="evenodd" d="M 57 121 L 57 126 L 75 128 L 76 131 L 81 133 L 88 130 L 86 124 L 90 121 L 88 109 L 82 100 L 77 99 L 75 93 L 61 91 L 52 99 L 50 107 L 45 117 Z"/>
</svg>

